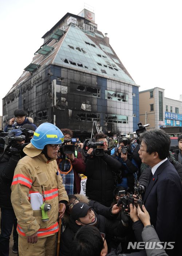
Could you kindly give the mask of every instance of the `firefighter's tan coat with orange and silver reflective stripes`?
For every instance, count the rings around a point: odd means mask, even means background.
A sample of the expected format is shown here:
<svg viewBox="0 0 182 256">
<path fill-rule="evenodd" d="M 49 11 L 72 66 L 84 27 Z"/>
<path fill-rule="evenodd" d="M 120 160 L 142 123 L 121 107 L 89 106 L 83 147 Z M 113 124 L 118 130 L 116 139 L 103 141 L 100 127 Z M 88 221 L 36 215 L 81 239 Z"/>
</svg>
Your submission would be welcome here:
<svg viewBox="0 0 182 256">
<path fill-rule="evenodd" d="M 32 236 L 36 232 L 38 238 L 50 236 L 59 230 L 59 202 L 68 202 L 56 158 L 48 161 L 42 150 L 31 143 L 23 151 L 27 156 L 18 162 L 11 186 L 17 231 L 21 236 Z M 42 221 L 41 210 L 32 210 L 30 194 L 35 192 L 43 194 L 45 203 L 51 205 L 51 210 L 47 211 L 48 221 Z"/>
</svg>

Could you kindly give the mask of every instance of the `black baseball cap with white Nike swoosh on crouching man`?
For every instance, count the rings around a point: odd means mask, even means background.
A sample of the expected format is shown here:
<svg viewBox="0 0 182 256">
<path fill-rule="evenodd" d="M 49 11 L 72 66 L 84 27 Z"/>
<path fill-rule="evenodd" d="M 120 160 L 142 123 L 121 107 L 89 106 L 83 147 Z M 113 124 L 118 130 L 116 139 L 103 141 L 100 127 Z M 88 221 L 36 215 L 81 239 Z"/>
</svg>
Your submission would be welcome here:
<svg viewBox="0 0 182 256">
<path fill-rule="evenodd" d="M 79 218 L 85 217 L 90 208 L 92 208 L 92 206 L 88 206 L 86 203 L 76 203 L 71 210 L 71 216 L 76 221 Z"/>
</svg>

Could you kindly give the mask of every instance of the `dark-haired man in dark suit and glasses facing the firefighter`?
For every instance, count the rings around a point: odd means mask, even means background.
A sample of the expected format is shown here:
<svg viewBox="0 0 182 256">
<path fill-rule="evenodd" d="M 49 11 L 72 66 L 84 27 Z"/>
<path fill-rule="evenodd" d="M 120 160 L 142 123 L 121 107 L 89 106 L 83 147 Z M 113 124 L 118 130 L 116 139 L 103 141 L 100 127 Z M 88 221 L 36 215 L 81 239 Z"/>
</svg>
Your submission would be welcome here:
<svg viewBox="0 0 182 256">
<path fill-rule="evenodd" d="M 178 255 L 182 241 L 182 184 L 177 171 L 167 156 L 170 137 L 161 129 L 148 130 L 140 135 L 139 150 L 142 163 L 150 165 L 151 180 L 147 186 L 144 204 L 150 214 L 151 224 L 168 255 Z M 167 249 L 174 245 L 174 249 Z M 180 250 L 181 251 L 181 250 Z"/>
</svg>

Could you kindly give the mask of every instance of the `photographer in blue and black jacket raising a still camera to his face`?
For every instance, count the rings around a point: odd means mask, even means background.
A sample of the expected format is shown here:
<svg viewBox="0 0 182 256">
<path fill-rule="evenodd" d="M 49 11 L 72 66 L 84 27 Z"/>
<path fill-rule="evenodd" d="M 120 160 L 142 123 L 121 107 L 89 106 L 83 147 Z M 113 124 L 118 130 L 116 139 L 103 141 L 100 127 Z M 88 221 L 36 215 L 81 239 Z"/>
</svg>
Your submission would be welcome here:
<svg viewBox="0 0 182 256">
<path fill-rule="evenodd" d="M 111 157 L 115 157 L 122 164 L 119 172 L 115 172 L 116 187 L 130 188 L 133 190 L 138 164 L 132 158 L 132 154 L 128 152 L 128 146 L 131 140 L 127 137 L 122 137 L 119 140 L 119 147 Z M 135 176 L 134 176 L 135 175 Z"/>
</svg>

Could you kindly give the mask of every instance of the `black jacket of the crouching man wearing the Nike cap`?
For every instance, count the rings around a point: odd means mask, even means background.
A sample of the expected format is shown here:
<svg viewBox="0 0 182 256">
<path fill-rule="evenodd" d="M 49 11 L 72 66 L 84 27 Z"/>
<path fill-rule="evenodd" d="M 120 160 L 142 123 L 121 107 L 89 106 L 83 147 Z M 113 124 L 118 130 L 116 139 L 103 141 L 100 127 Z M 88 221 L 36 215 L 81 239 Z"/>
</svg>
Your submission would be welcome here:
<svg viewBox="0 0 182 256">
<path fill-rule="evenodd" d="M 104 216 L 98 215 L 96 213 L 95 216 L 97 218 L 95 227 L 98 228 L 100 232 L 106 234 L 106 236 L 125 237 L 131 232 L 131 226 L 128 228 L 123 226 L 122 221 L 109 220 Z M 70 226 L 63 232 L 61 236 L 59 256 L 70 255 L 70 245 L 72 239 L 75 236 L 75 233 L 79 230 L 79 228 L 81 228 L 81 226 L 77 225 L 72 216 L 70 216 Z"/>
</svg>

